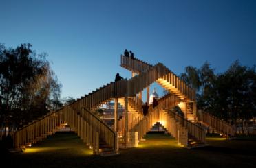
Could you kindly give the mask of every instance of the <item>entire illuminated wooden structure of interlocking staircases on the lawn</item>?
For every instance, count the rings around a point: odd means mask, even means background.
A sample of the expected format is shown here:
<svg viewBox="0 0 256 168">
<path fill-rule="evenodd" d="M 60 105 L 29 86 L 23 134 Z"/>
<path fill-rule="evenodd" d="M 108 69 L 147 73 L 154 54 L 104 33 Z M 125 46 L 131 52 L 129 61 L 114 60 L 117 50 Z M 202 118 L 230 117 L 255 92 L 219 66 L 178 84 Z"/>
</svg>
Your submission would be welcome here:
<svg viewBox="0 0 256 168">
<path fill-rule="evenodd" d="M 182 117 L 170 110 L 180 102 L 195 104 L 193 88 L 186 85 L 161 63 L 153 66 L 137 58 L 121 56 L 121 67 L 137 73 L 137 75 L 129 80 L 110 82 L 77 99 L 72 104 L 24 125 L 14 134 L 14 147 L 25 147 L 41 141 L 48 135 L 54 134 L 65 123 L 70 125 L 86 145 L 92 147 L 94 154 L 117 154 L 118 136 L 122 136 L 125 147 L 128 147 L 131 144 L 130 141 L 134 142 L 136 139 L 140 141 L 156 122 L 164 125 L 164 128 L 167 128 L 168 132 L 184 147 L 205 143 L 204 130 L 189 121 L 189 115 Z M 167 89 L 169 95 L 162 97 L 157 107 L 150 106 L 149 114 L 144 117 L 141 108 L 143 102 L 136 95 L 153 82 L 158 82 Z M 115 102 L 119 100 L 125 108 L 125 114 L 119 121 L 115 113 L 114 130 L 92 112 L 94 108 L 112 99 L 115 99 Z M 189 108 L 187 107 L 186 110 L 189 111 Z M 195 118 L 195 108 L 191 114 Z M 213 120 L 207 118 L 209 115 L 206 117 L 204 114 L 201 112 L 200 115 L 197 115 L 197 121 L 213 126 Z M 219 122 L 219 120 L 215 120 Z M 220 128 L 226 132 L 224 123 L 221 126 L 215 124 L 215 129 Z M 137 132 L 137 136 L 131 137 L 132 132 Z"/>
</svg>

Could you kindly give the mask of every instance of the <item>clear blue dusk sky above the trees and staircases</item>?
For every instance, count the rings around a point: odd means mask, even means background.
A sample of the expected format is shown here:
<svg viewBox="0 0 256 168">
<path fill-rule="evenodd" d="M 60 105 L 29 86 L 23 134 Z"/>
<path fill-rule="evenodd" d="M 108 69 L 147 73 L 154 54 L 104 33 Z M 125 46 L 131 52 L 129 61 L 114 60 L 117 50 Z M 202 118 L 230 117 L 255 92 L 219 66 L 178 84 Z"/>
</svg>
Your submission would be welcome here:
<svg viewBox="0 0 256 168">
<path fill-rule="evenodd" d="M 129 49 L 176 74 L 208 61 L 217 72 L 235 60 L 256 64 L 256 1 L 0 0 L 0 43 L 31 43 L 63 85 L 81 97 L 114 81 Z"/>
</svg>

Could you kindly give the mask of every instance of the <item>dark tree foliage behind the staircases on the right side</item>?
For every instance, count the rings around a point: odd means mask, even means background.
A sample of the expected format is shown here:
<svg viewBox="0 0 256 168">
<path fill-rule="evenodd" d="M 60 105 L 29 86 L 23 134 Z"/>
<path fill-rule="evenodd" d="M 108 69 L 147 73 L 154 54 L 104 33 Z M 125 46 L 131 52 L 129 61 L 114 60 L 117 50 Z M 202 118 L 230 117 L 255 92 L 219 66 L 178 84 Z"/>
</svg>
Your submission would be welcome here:
<svg viewBox="0 0 256 168">
<path fill-rule="evenodd" d="M 224 73 L 215 74 L 206 62 L 200 69 L 186 67 L 181 77 L 198 90 L 198 108 L 231 123 L 256 117 L 255 66 L 246 67 L 235 61 Z"/>
</svg>

